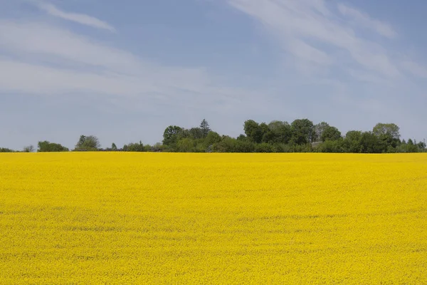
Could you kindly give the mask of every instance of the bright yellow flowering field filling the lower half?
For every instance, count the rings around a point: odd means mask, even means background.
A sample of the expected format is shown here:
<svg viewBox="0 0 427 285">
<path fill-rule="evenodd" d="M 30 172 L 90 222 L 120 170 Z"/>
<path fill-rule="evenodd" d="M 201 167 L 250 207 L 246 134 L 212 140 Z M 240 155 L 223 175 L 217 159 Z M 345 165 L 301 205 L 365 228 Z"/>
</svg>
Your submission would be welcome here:
<svg viewBox="0 0 427 285">
<path fill-rule="evenodd" d="M 427 284 L 427 155 L 0 155 L 0 284 Z"/>
</svg>

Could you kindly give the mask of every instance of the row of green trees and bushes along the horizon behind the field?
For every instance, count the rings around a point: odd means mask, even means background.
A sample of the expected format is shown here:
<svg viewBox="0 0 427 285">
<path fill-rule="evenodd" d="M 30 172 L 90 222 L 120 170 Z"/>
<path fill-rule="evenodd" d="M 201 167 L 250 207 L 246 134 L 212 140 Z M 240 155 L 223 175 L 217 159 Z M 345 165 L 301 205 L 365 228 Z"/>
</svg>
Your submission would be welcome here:
<svg viewBox="0 0 427 285">
<path fill-rule="evenodd" d="M 220 135 L 211 130 L 209 123 L 202 120 L 199 127 L 181 128 L 169 125 L 164 130 L 162 143 L 144 145 L 132 142 L 118 148 L 102 148 L 94 135 L 81 135 L 71 151 L 124 151 L 124 152 L 352 152 L 352 153 L 396 153 L 426 152 L 426 143 L 416 140 L 401 140 L 399 126 L 394 123 L 378 123 L 371 131 L 350 130 L 345 135 L 326 122 L 313 124 L 307 118 L 288 123 L 273 120 L 257 123 L 246 120 L 244 134 L 237 138 Z M 32 145 L 22 152 L 36 151 Z M 67 152 L 67 147 L 55 142 L 40 141 L 37 152 Z M 0 152 L 14 152 L 0 148 Z"/>
</svg>

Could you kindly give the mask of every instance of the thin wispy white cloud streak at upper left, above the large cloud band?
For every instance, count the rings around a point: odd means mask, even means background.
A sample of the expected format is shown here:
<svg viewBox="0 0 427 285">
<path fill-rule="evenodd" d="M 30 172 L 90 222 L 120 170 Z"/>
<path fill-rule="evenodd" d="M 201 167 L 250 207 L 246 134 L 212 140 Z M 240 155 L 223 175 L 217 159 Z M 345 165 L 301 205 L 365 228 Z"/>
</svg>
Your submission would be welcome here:
<svg viewBox="0 0 427 285">
<path fill-rule="evenodd" d="M 51 16 L 56 16 L 58 18 L 68 20 L 68 21 L 74 21 L 78 24 L 91 26 L 93 28 L 103 28 L 112 32 L 116 31 L 115 28 L 112 27 L 110 24 L 107 24 L 105 21 L 101 21 L 100 19 L 97 19 L 93 16 L 88 16 L 85 14 L 68 13 L 58 9 L 56 6 L 53 6 L 52 4 L 48 4 L 44 2 L 36 2 L 36 3 L 40 9 L 42 9 L 43 11 L 46 11 Z"/>
</svg>

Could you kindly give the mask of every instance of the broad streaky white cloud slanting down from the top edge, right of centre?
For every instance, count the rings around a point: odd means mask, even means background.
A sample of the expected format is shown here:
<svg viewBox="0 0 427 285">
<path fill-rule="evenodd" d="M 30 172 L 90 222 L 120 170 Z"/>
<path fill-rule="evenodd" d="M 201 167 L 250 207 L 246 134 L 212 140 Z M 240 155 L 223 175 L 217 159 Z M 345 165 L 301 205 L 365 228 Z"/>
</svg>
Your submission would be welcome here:
<svg viewBox="0 0 427 285">
<path fill-rule="evenodd" d="M 323 0 L 228 0 L 228 3 L 263 24 L 286 51 L 304 61 L 330 65 L 339 64 L 341 58 L 347 57 L 353 64 L 382 76 L 399 76 L 386 49 L 357 36 L 348 23 L 337 20 Z M 302 49 L 295 48 L 292 44 L 295 42 Z"/>
</svg>

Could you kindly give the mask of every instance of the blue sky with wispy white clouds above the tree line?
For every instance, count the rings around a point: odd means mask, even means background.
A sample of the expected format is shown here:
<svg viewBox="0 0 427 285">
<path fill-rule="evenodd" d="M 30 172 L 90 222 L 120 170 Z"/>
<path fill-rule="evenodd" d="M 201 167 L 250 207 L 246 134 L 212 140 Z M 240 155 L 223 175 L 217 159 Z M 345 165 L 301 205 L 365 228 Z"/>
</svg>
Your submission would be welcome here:
<svg viewBox="0 0 427 285">
<path fill-rule="evenodd" d="M 162 140 L 203 118 L 427 137 L 421 0 L 0 0 L 0 146 Z"/>
</svg>

